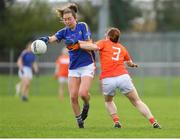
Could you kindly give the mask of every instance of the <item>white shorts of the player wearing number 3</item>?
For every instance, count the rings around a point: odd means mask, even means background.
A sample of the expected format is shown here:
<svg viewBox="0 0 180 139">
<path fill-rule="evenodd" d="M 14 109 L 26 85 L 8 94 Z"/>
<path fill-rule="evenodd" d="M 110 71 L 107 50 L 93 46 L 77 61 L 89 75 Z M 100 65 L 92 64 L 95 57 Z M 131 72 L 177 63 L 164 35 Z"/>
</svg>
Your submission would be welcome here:
<svg viewBox="0 0 180 139">
<path fill-rule="evenodd" d="M 102 91 L 104 95 L 114 96 L 116 89 L 127 94 L 134 89 L 132 79 L 128 74 L 102 79 Z"/>
</svg>

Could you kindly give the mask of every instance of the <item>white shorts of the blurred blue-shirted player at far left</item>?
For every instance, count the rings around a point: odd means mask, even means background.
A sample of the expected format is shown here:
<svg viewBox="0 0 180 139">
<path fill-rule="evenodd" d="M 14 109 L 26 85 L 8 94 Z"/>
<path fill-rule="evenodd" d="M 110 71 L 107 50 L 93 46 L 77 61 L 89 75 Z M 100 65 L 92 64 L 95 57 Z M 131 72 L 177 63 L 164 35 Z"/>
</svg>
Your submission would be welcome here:
<svg viewBox="0 0 180 139">
<path fill-rule="evenodd" d="M 32 69 L 30 67 L 26 67 L 24 66 L 22 71 L 19 70 L 18 71 L 18 75 L 19 75 L 19 78 L 29 78 L 30 80 L 32 80 L 33 78 L 33 74 L 32 74 Z"/>
</svg>

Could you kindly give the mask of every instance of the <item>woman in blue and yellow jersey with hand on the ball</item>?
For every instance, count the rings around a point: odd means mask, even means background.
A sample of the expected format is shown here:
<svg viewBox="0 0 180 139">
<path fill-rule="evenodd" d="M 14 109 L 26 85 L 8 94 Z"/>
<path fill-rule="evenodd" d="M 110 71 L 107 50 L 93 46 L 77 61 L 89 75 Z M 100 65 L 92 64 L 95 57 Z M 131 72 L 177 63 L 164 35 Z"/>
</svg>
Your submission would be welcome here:
<svg viewBox="0 0 180 139">
<path fill-rule="evenodd" d="M 78 40 L 91 41 L 91 32 L 84 22 L 77 22 L 78 7 L 69 4 L 57 12 L 65 27 L 52 36 L 41 37 L 46 43 L 64 40 L 69 49 L 70 64 L 68 70 L 68 89 L 74 115 L 79 128 L 84 128 L 84 120 L 89 110 L 89 89 L 94 77 L 94 52 L 80 49 Z M 83 109 L 80 110 L 78 96 L 83 100 Z"/>
</svg>

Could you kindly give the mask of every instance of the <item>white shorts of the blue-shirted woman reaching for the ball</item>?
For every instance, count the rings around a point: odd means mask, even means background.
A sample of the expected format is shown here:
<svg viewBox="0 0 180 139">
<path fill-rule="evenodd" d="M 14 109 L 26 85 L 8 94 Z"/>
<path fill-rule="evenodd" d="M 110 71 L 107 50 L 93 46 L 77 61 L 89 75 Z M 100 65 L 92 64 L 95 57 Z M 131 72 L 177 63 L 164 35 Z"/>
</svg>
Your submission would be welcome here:
<svg viewBox="0 0 180 139">
<path fill-rule="evenodd" d="M 69 77 L 83 77 L 83 76 L 94 77 L 95 66 L 94 63 L 92 63 L 88 66 L 80 67 L 74 70 L 69 70 L 68 72 L 69 72 L 68 73 Z"/>
</svg>

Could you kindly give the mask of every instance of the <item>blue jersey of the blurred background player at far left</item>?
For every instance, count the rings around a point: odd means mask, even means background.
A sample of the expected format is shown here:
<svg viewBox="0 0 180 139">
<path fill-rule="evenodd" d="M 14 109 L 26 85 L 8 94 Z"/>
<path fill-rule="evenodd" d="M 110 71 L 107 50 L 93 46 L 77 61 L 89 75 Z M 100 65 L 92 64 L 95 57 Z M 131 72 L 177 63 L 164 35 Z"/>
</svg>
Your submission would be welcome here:
<svg viewBox="0 0 180 139">
<path fill-rule="evenodd" d="M 23 51 L 20 56 L 22 58 L 23 66 L 32 68 L 32 64 L 35 61 L 35 55 L 32 52 Z"/>
</svg>

